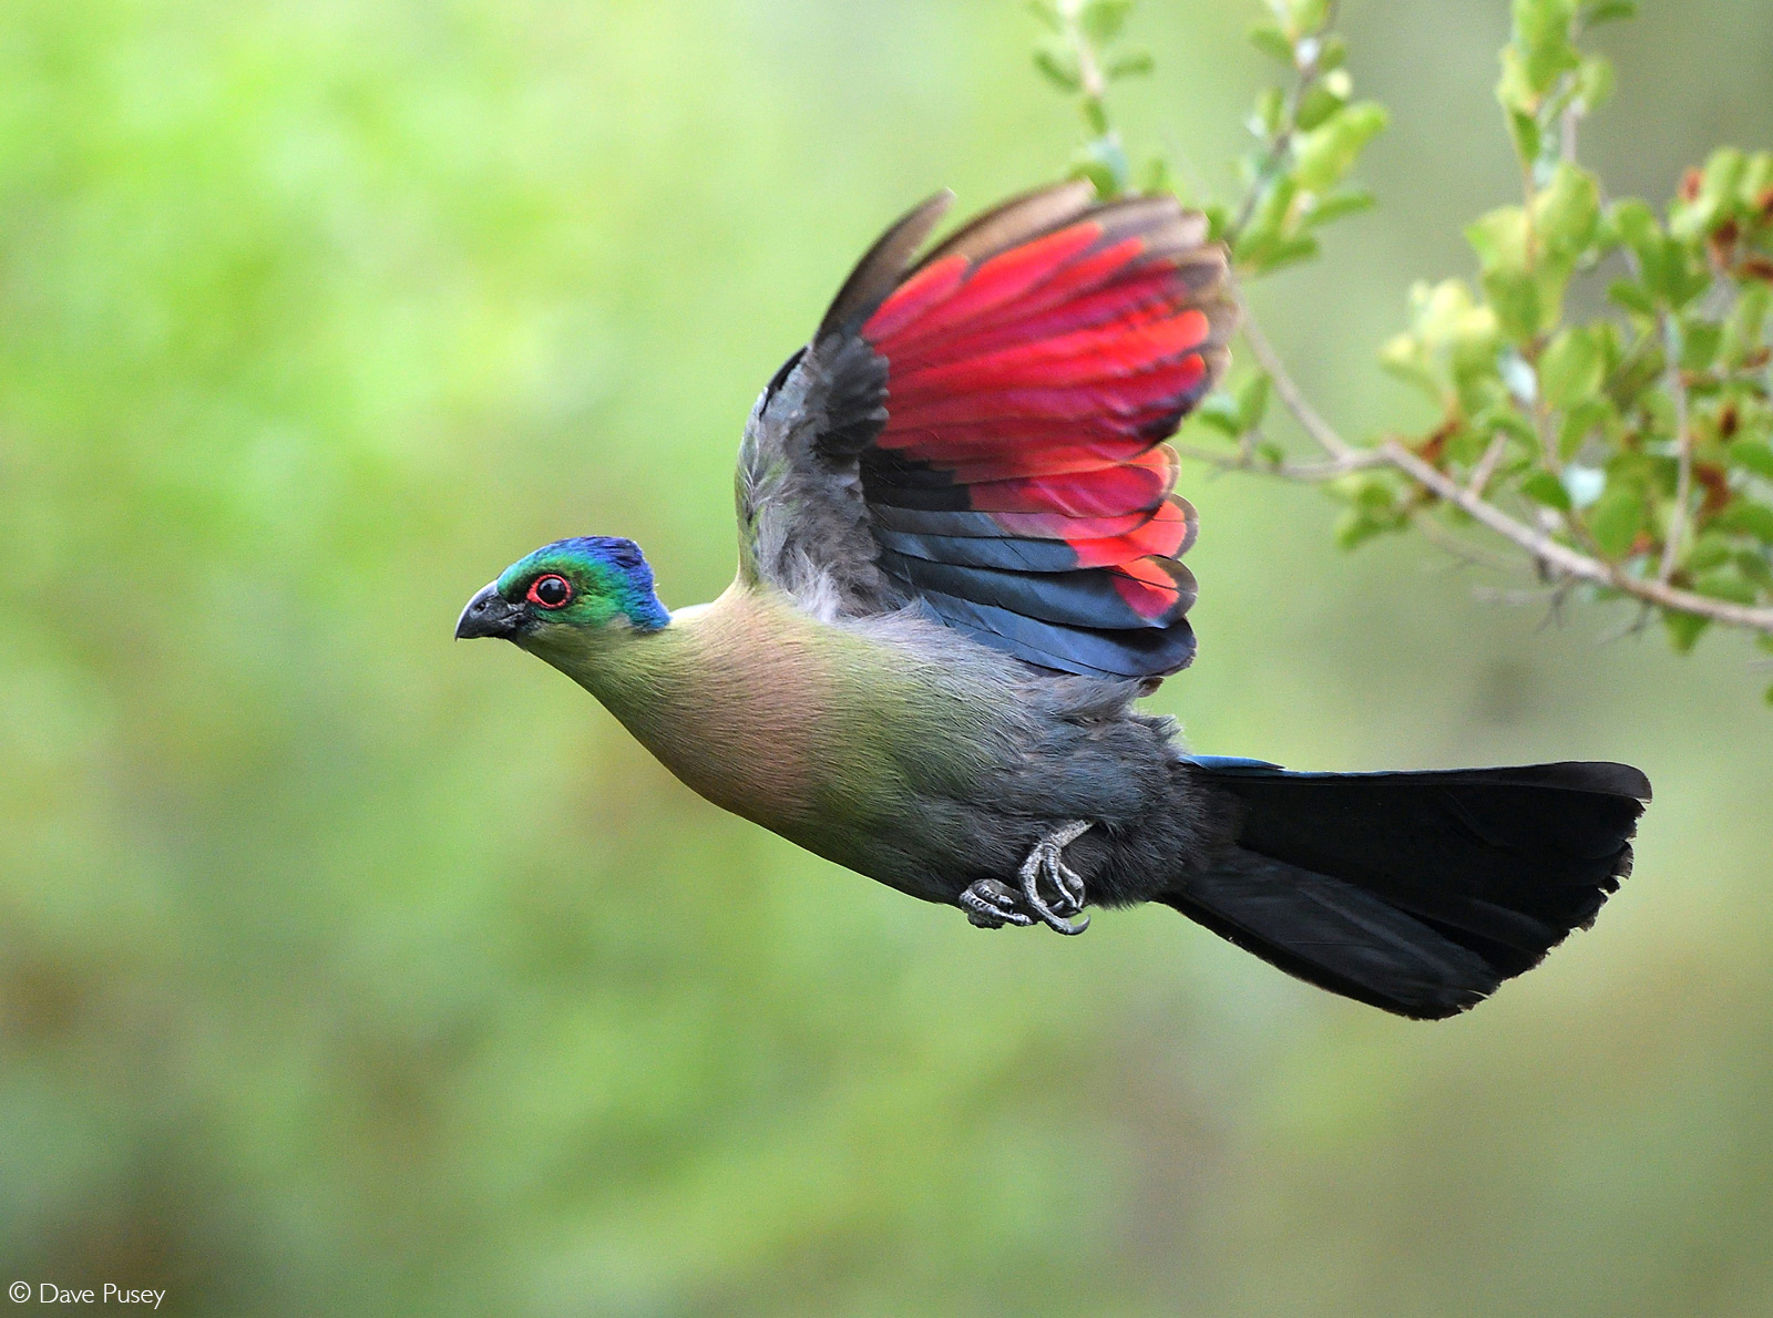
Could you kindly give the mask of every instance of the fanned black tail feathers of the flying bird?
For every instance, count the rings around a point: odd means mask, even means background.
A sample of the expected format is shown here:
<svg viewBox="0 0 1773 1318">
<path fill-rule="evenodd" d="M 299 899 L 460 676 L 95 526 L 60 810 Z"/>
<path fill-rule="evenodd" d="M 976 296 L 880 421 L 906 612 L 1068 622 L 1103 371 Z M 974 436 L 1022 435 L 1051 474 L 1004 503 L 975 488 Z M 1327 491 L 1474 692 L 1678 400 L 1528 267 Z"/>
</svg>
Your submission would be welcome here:
<svg viewBox="0 0 1773 1318">
<path fill-rule="evenodd" d="M 1594 923 L 1651 799 L 1622 764 L 1193 764 L 1232 799 L 1236 850 L 1161 900 L 1289 974 L 1420 1020 L 1475 1006 Z"/>
</svg>

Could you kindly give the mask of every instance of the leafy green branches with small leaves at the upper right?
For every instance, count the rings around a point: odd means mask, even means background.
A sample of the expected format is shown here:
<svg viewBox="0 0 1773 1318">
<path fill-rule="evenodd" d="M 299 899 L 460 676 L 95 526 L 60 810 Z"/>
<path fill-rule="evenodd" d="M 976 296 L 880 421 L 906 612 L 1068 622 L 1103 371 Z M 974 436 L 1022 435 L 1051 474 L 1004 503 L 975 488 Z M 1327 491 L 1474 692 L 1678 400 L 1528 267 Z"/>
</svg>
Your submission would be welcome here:
<svg viewBox="0 0 1773 1318">
<path fill-rule="evenodd" d="M 1152 64 L 1112 51 L 1131 5 L 1032 7 L 1053 34 L 1037 64 L 1089 124 L 1076 172 L 1121 191 L 1129 170 L 1103 92 L 1117 73 Z M 1250 44 L 1287 85 L 1255 99 L 1241 200 L 1199 198 L 1243 285 L 1319 255 L 1324 225 L 1374 204 L 1347 177 L 1390 120 L 1379 103 L 1353 99 L 1335 0 L 1268 0 L 1261 12 Z M 1427 425 L 1392 423 L 1385 443 L 1349 445 L 1280 379 L 1287 409 L 1330 459 L 1291 462 L 1262 427 L 1268 376 L 1284 365 L 1246 317 L 1255 370 L 1209 399 L 1190 430 L 1232 439 L 1238 455 L 1183 452 L 1323 484 L 1346 505 L 1342 547 L 1417 528 L 1495 563 L 1459 544 L 1486 530 L 1527 549 L 1519 567 L 1560 597 L 1635 599 L 1640 625 L 1660 611 L 1677 650 L 1723 622 L 1773 652 L 1773 152 L 1711 151 L 1665 216 L 1606 198 L 1578 163 L 1578 135 L 1612 97 L 1615 73 L 1582 43 L 1635 12 L 1631 0 L 1514 0 L 1495 94 L 1523 202 L 1464 227 L 1475 283 L 1418 283 L 1411 328 L 1381 354 L 1427 400 Z M 1199 191 L 1161 156 L 1144 186 Z M 1578 276 L 1608 273 L 1610 312 L 1567 310 Z M 1766 694 L 1773 702 L 1773 687 Z"/>
</svg>

